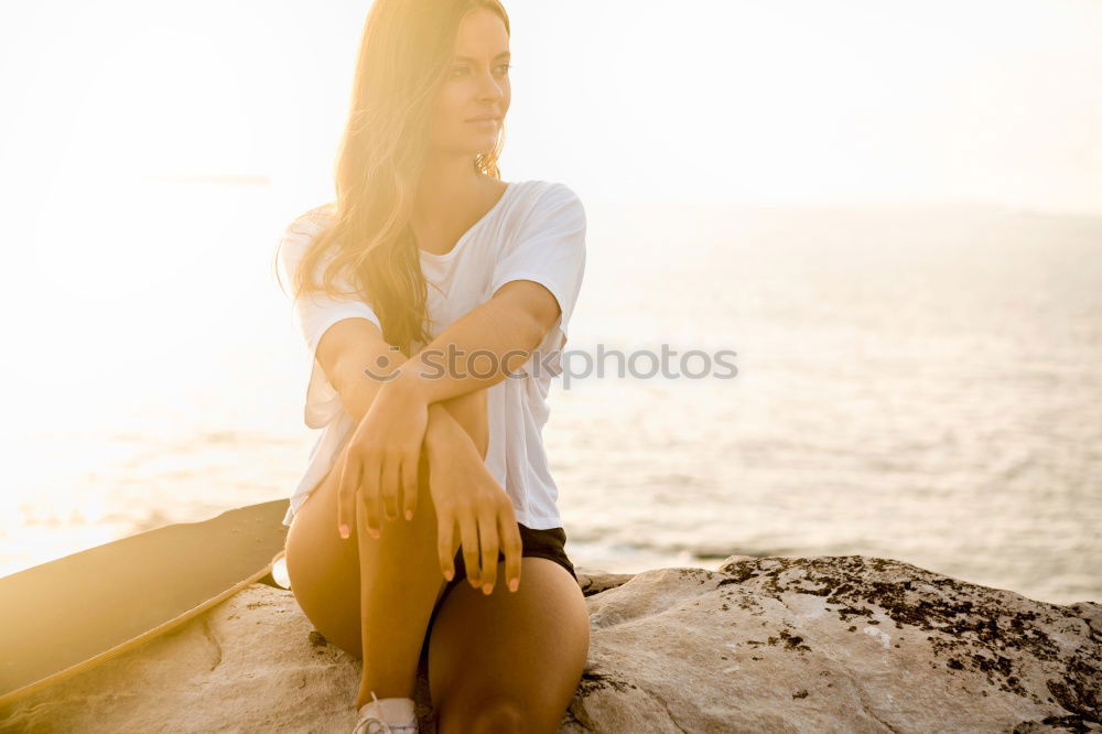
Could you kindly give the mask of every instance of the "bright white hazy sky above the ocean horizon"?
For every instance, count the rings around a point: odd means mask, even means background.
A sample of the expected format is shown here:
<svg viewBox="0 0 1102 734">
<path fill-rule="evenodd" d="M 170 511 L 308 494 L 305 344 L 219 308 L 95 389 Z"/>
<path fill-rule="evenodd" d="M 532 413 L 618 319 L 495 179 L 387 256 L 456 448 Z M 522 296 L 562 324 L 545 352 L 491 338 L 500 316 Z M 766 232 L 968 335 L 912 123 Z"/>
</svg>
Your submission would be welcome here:
<svg viewBox="0 0 1102 734">
<path fill-rule="evenodd" d="M 3 3 L 0 208 L 56 176 L 317 201 L 369 3 Z M 1102 213 L 1095 0 L 506 0 L 508 180 L 597 199 Z"/>
</svg>

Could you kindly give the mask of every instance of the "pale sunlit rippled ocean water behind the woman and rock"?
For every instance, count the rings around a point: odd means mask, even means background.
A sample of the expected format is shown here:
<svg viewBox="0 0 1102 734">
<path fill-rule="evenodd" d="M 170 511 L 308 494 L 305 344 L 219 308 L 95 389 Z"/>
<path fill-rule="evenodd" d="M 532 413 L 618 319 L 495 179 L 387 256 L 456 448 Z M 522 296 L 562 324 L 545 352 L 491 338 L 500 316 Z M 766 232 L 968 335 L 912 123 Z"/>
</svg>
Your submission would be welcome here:
<svg viewBox="0 0 1102 734">
<path fill-rule="evenodd" d="M 128 202 L 17 225 L 0 574 L 287 497 L 316 438 L 271 257 L 320 202 Z M 586 208 L 544 433 L 575 565 L 861 553 L 1102 602 L 1102 217 Z M 706 376 L 638 376 L 663 346 Z M 637 376 L 584 375 L 598 348 Z"/>
</svg>

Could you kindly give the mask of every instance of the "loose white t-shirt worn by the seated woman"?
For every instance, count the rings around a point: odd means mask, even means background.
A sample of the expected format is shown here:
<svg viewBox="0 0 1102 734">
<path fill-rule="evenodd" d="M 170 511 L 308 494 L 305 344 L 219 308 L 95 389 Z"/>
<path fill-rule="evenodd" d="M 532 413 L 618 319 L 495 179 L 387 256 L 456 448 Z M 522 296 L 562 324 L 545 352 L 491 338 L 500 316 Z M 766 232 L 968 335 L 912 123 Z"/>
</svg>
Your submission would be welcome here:
<svg viewBox="0 0 1102 734">
<path fill-rule="evenodd" d="M 332 216 L 332 204 L 323 205 L 299 216 L 284 229 L 279 263 L 285 283 L 290 284 L 305 247 Z M 486 467 L 512 500 L 517 521 L 532 529 L 562 526 L 555 504 L 559 490 L 548 468 L 542 429 L 550 414 L 547 398 L 551 378 L 562 374 L 561 354 L 557 353 L 566 343 L 568 325 L 582 287 L 585 226 L 582 202 L 565 184 L 510 182 L 497 204 L 460 237 L 452 250 L 445 255 L 420 251 L 421 269 L 429 281 L 429 333 L 433 338 L 512 280 L 541 283 L 559 301 L 562 315 L 532 357 L 514 371 L 514 377 L 487 391 Z M 342 290 L 352 291 L 347 282 L 337 282 Z M 292 299 L 292 311 L 311 360 L 304 418 L 307 427 L 322 429 L 322 433 L 302 481 L 291 494 L 284 526 L 291 525 L 294 512 L 325 477 L 355 429 L 339 393 L 315 358 L 317 344 L 325 331 L 343 319 L 367 319 L 381 330 L 378 316 L 359 300 L 310 294 Z M 423 346 L 414 344 L 414 352 Z M 550 369 L 538 368 L 537 359 Z M 440 358 L 434 363 L 442 364 Z M 484 360 L 478 363 L 485 365 Z M 527 376 L 516 377 L 520 374 Z"/>
</svg>

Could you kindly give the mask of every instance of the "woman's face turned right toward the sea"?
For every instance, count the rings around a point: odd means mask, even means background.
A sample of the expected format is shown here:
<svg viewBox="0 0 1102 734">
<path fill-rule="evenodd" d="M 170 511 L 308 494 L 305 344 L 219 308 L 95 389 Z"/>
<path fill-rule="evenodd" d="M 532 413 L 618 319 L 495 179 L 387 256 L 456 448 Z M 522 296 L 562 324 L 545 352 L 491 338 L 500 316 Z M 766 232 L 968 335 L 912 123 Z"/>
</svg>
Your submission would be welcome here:
<svg viewBox="0 0 1102 734">
<path fill-rule="evenodd" d="M 460 23 L 455 56 L 433 111 L 432 148 L 471 155 L 491 151 L 510 98 L 505 23 L 493 11 L 477 8 Z"/>
</svg>

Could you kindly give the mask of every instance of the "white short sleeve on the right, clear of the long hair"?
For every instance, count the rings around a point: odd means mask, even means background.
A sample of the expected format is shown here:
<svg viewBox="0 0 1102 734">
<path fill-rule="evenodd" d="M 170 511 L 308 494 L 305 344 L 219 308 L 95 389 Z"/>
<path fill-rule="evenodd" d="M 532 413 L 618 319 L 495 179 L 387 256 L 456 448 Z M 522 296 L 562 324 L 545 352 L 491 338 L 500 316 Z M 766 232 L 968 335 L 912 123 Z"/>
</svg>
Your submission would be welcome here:
<svg viewBox="0 0 1102 734">
<path fill-rule="evenodd" d="M 562 314 L 537 347 L 541 357 L 560 353 L 566 344 L 585 274 L 585 207 L 577 194 L 565 184 L 550 184 L 494 266 L 490 295 L 510 281 L 531 280 L 559 302 Z M 562 374 L 561 354 L 542 364 L 550 365 L 551 377 Z"/>
</svg>

